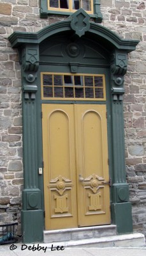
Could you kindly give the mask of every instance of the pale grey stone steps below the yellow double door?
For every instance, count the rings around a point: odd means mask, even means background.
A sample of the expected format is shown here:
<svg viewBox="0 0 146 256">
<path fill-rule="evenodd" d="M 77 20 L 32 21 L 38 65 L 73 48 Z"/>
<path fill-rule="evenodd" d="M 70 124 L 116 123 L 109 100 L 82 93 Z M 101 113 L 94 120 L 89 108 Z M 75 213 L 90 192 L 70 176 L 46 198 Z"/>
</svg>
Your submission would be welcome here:
<svg viewBox="0 0 146 256">
<path fill-rule="evenodd" d="M 44 244 L 48 248 L 64 247 L 142 247 L 145 236 L 141 233 L 117 235 L 116 225 L 84 228 L 67 228 L 43 232 Z"/>
</svg>

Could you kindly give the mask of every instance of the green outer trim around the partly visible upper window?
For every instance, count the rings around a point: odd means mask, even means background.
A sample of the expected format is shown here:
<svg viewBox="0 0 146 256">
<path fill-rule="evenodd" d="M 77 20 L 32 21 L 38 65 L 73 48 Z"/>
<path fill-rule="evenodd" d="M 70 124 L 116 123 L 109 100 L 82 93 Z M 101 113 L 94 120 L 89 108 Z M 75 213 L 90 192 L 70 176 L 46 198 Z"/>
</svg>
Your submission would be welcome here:
<svg viewBox="0 0 146 256">
<path fill-rule="evenodd" d="M 40 0 L 41 2 L 41 8 L 40 8 L 40 17 L 47 19 L 48 15 L 71 15 L 73 12 L 61 12 L 61 11 L 57 11 L 54 8 L 54 10 L 48 10 L 48 0 Z M 93 13 L 89 13 L 91 18 L 94 18 L 95 21 L 97 23 L 101 23 L 103 20 L 103 15 L 100 12 L 100 0 L 92 0 L 93 6 L 92 6 L 92 10 Z M 87 12 L 88 13 L 88 12 Z"/>
</svg>

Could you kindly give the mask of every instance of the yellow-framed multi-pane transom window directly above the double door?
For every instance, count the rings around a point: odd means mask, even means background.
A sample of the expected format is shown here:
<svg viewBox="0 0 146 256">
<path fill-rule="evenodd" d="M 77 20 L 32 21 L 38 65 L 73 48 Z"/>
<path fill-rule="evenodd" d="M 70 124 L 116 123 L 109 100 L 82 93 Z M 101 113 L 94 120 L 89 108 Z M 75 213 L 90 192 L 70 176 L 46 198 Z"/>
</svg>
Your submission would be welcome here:
<svg viewBox="0 0 146 256">
<path fill-rule="evenodd" d="M 105 75 L 41 72 L 41 99 L 106 100 Z"/>
</svg>

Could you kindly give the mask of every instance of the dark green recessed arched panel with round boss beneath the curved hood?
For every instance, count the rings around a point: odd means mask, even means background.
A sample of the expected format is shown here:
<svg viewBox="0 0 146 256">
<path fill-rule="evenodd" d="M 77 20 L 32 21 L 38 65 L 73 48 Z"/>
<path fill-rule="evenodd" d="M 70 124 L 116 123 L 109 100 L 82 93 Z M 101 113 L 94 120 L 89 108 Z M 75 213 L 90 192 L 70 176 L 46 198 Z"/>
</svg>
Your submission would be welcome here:
<svg viewBox="0 0 146 256">
<path fill-rule="evenodd" d="M 108 55 L 106 49 L 92 40 L 84 37 L 72 40 L 69 33 L 52 37 L 40 44 L 40 62 L 43 63 L 79 62 L 88 65 L 107 65 Z"/>
</svg>

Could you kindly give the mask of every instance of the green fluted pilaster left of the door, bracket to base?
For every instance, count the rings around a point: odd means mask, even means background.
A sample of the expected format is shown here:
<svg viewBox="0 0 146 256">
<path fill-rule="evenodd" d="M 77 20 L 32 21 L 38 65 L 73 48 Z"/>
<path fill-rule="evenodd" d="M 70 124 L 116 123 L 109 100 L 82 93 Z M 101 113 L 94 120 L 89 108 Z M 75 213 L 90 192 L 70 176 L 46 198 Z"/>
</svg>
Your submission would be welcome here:
<svg viewBox="0 0 146 256">
<path fill-rule="evenodd" d="M 22 50 L 22 102 L 24 143 L 24 190 L 22 192 L 22 237 L 24 243 L 43 241 L 43 210 L 38 187 L 38 141 L 36 86 L 38 45 Z"/>
</svg>

